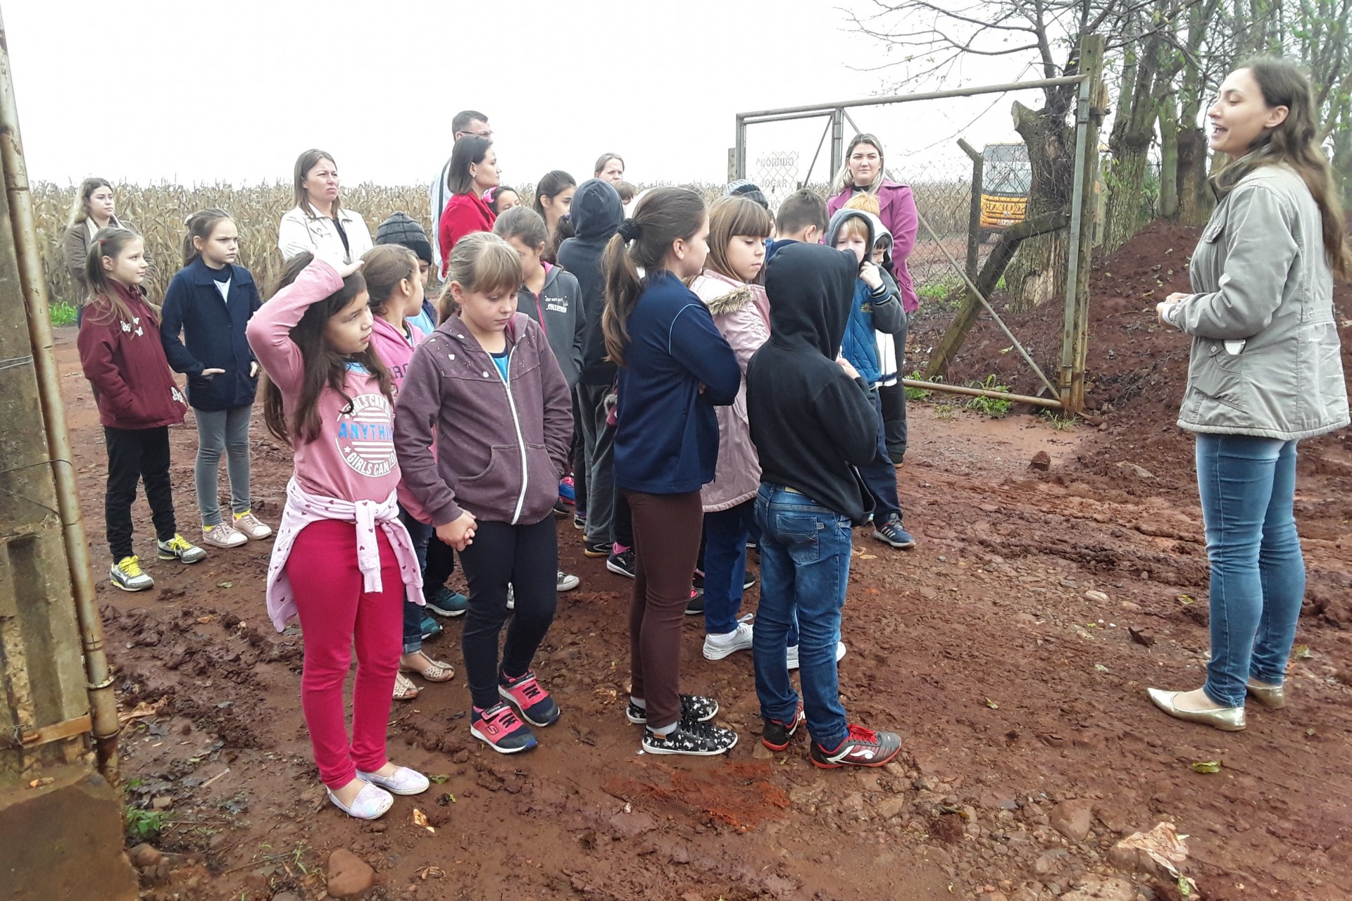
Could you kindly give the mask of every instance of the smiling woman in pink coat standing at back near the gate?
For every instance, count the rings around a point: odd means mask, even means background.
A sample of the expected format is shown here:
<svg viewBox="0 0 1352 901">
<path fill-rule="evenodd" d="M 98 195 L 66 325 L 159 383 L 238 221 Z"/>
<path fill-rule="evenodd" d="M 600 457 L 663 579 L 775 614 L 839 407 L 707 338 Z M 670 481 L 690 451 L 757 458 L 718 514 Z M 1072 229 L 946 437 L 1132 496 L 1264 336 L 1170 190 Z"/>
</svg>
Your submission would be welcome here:
<svg viewBox="0 0 1352 901">
<path fill-rule="evenodd" d="M 867 192 L 877 197 L 879 215 L 887 230 L 892 232 L 892 277 L 902 296 L 902 309 L 910 316 L 919 305 L 911 273 L 906 266 L 911 249 L 915 247 L 915 232 L 919 216 L 915 212 L 915 197 L 909 185 L 899 185 L 887 178 L 883 142 L 875 135 L 854 135 L 845 151 L 845 165 L 836 176 L 836 195 L 826 204 L 829 215 L 836 215 L 856 193 Z M 904 335 L 904 332 L 899 332 Z M 896 366 L 904 373 L 904 336 L 898 342 Z M 896 463 L 906 455 L 906 389 L 900 382 L 879 390 L 883 401 L 883 426 L 887 432 L 887 453 Z"/>
</svg>

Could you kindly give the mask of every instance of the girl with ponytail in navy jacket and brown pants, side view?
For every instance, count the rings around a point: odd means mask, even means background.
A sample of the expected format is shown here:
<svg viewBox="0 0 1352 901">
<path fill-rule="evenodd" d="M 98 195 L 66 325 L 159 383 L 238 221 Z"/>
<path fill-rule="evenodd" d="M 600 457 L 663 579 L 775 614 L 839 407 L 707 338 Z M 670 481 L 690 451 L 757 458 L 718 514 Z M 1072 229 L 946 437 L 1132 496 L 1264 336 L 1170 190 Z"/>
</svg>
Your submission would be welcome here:
<svg viewBox="0 0 1352 901">
<path fill-rule="evenodd" d="M 742 384 L 737 355 L 683 282 L 707 254 L 703 199 L 658 188 L 602 259 L 602 330 L 619 366 L 615 485 L 633 511 L 637 551 L 629 721 L 646 725 L 649 754 L 711 755 L 737 744 L 735 732 L 708 723 L 717 701 L 680 694 L 681 621 L 704 515 L 699 489 L 718 462 L 714 407 L 731 404 Z"/>
</svg>

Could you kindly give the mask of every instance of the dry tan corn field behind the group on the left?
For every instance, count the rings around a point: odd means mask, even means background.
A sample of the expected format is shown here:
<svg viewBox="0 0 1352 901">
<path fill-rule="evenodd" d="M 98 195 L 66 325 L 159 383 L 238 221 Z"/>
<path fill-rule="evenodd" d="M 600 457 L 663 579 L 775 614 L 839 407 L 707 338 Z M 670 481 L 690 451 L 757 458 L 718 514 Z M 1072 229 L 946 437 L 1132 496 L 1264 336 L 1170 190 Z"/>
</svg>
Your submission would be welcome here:
<svg viewBox="0 0 1352 901">
<path fill-rule="evenodd" d="M 722 185 L 691 185 L 706 199 L 722 193 Z M 51 303 L 76 303 L 76 282 L 66 270 L 61 242 L 70 222 L 70 205 L 78 185 L 37 182 L 32 201 L 37 213 L 38 240 L 42 265 L 47 273 L 47 297 Z M 530 203 L 530 188 L 522 186 L 523 203 Z M 277 223 L 283 213 L 296 205 L 289 184 L 256 185 L 235 189 L 230 185 L 118 185 L 118 217 L 141 230 L 146 240 L 150 272 L 146 290 L 150 300 L 160 303 L 169 280 L 183 265 L 184 222 L 207 207 L 220 207 L 235 220 L 239 230 L 238 263 L 253 273 L 264 299 L 281 274 L 281 253 L 277 250 Z M 357 211 L 366 220 L 370 236 L 376 226 L 393 212 L 403 211 L 429 230 L 431 240 L 437 232 L 429 216 L 427 185 L 385 186 L 365 182 L 343 189 L 343 207 Z"/>
</svg>

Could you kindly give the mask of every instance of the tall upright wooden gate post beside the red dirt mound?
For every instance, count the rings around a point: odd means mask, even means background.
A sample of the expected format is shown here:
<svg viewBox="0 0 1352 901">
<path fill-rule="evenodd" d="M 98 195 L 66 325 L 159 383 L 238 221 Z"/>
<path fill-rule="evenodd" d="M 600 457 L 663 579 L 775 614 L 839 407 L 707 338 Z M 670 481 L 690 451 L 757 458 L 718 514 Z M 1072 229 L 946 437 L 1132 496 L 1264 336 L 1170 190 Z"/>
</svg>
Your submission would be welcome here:
<svg viewBox="0 0 1352 901">
<path fill-rule="evenodd" d="M 1080 43 L 1080 84 L 1075 105 L 1075 184 L 1071 196 L 1071 246 L 1061 324 L 1061 367 L 1057 388 L 1069 413 L 1084 409 L 1084 367 L 1088 357 L 1090 251 L 1094 247 L 1094 185 L 1098 182 L 1099 126 L 1107 112 L 1103 89 L 1103 36 Z"/>
</svg>

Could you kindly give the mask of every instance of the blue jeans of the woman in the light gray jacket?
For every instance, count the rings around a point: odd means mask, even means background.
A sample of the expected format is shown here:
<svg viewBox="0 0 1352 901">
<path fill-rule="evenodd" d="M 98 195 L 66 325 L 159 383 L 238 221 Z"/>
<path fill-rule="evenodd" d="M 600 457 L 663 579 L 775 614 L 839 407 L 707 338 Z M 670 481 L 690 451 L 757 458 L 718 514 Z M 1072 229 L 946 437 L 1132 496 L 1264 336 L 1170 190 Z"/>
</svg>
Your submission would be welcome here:
<svg viewBox="0 0 1352 901">
<path fill-rule="evenodd" d="M 1305 597 L 1295 532 L 1295 442 L 1198 435 L 1197 485 L 1211 562 L 1206 693 L 1244 705 L 1252 677 L 1280 685 Z"/>
</svg>

